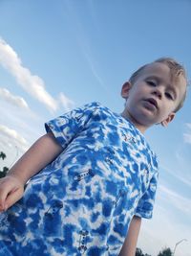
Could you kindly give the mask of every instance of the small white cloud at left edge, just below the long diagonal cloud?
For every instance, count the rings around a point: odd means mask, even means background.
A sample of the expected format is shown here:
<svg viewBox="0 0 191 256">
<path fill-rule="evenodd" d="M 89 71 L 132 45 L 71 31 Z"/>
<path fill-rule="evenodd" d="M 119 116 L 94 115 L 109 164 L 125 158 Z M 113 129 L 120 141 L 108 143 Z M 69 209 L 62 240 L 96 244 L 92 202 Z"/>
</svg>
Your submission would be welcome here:
<svg viewBox="0 0 191 256">
<path fill-rule="evenodd" d="M 22 108 L 29 108 L 29 105 L 22 97 L 11 94 L 11 92 L 6 88 L 0 88 L 0 98 L 10 103 L 11 105 L 16 105 Z"/>
</svg>

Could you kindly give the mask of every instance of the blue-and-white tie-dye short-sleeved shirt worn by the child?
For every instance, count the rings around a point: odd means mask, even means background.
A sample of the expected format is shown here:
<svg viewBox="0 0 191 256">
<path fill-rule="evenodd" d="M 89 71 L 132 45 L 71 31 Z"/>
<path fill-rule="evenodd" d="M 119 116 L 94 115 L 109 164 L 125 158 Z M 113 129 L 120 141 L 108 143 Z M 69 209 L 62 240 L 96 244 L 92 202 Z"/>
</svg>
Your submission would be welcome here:
<svg viewBox="0 0 191 256">
<path fill-rule="evenodd" d="M 138 128 L 98 103 L 45 127 L 63 151 L 0 215 L 0 255 L 117 256 L 134 215 L 152 217 L 156 154 Z"/>
</svg>

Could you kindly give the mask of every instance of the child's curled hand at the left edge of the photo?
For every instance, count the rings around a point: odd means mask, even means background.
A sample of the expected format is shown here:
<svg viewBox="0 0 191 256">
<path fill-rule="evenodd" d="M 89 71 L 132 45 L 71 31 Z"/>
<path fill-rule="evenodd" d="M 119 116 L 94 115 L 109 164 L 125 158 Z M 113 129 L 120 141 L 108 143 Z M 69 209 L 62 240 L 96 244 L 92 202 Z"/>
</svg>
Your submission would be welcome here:
<svg viewBox="0 0 191 256">
<path fill-rule="evenodd" d="M 14 176 L 0 178 L 0 212 L 6 211 L 12 204 L 22 198 L 24 184 Z"/>
</svg>

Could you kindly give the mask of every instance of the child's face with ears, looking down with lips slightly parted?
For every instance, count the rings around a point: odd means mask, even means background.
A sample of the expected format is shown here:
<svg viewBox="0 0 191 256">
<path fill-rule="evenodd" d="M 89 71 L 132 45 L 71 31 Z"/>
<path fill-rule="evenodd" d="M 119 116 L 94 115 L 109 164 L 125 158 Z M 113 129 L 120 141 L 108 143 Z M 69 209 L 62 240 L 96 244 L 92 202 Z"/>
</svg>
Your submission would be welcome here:
<svg viewBox="0 0 191 256">
<path fill-rule="evenodd" d="M 186 81 L 180 76 L 172 78 L 163 63 L 152 63 L 144 68 L 132 85 L 125 82 L 121 96 L 126 99 L 122 113 L 141 132 L 154 124 L 167 126 L 175 116 L 175 109 L 186 90 Z"/>
</svg>

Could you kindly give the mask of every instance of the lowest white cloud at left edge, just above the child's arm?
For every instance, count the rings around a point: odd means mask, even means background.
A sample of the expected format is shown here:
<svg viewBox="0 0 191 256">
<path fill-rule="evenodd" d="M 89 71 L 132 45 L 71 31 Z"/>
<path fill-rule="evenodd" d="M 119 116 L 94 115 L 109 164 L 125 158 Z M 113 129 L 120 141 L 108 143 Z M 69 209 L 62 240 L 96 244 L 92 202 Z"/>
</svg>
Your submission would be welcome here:
<svg viewBox="0 0 191 256">
<path fill-rule="evenodd" d="M 0 125 L 0 139 L 6 138 L 10 147 L 17 146 L 21 151 L 29 148 L 28 142 L 16 130 Z"/>
</svg>

